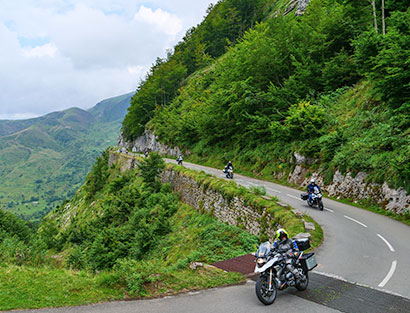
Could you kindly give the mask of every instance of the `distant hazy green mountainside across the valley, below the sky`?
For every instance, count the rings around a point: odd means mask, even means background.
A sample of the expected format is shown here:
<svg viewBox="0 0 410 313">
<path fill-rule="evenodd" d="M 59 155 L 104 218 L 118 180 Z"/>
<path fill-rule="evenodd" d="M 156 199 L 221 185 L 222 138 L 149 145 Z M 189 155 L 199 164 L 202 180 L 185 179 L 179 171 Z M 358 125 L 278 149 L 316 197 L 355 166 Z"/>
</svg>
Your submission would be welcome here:
<svg viewBox="0 0 410 313">
<path fill-rule="evenodd" d="M 38 220 L 84 182 L 115 145 L 133 93 L 22 121 L 0 121 L 0 207 Z"/>
</svg>

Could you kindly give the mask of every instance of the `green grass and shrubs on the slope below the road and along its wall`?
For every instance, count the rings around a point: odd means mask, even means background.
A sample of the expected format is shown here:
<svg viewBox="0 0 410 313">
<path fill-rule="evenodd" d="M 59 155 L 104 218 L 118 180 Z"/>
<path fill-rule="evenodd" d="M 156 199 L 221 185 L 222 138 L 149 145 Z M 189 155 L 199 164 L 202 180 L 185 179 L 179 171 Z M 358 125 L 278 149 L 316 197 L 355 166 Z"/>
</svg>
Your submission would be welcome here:
<svg viewBox="0 0 410 313">
<path fill-rule="evenodd" d="M 125 172 L 120 163 L 109 167 L 108 159 L 106 151 L 72 201 L 49 213 L 38 229 L 0 211 L 1 310 L 158 297 L 245 281 L 208 264 L 255 251 L 265 234 L 251 235 L 180 202 L 159 181 L 165 164 L 157 154 Z M 203 188 L 266 209 L 274 225 L 292 235 L 303 231 L 290 208 L 260 198 L 260 190 L 171 168 Z M 321 236 L 313 236 L 317 246 Z M 203 266 L 191 269 L 193 262 Z"/>
</svg>

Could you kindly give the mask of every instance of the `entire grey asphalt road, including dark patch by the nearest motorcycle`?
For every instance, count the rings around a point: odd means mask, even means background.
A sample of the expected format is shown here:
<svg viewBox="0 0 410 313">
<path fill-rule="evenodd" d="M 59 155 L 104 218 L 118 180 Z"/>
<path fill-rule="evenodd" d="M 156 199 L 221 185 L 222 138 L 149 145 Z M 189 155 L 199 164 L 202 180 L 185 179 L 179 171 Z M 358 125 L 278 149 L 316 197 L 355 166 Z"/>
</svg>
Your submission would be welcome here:
<svg viewBox="0 0 410 313">
<path fill-rule="evenodd" d="M 186 162 L 184 166 L 225 178 L 221 169 Z M 409 226 L 327 198 L 324 211 L 319 211 L 300 199 L 299 190 L 238 174 L 234 180 L 246 187 L 264 186 L 267 195 L 310 215 L 323 228 L 324 241 L 316 250 L 319 265 L 310 273 L 306 291 L 289 288 L 265 306 L 255 295 L 254 281 L 248 280 L 244 285 L 154 300 L 13 312 L 410 313 Z"/>
</svg>

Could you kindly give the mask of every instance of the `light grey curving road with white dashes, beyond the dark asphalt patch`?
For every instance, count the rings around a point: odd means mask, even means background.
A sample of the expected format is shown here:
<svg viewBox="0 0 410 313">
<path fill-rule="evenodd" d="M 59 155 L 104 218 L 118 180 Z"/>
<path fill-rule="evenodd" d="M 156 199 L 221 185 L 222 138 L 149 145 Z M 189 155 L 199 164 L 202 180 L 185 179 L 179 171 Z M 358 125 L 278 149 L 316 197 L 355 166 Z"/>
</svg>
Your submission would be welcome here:
<svg viewBox="0 0 410 313">
<path fill-rule="evenodd" d="M 186 162 L 184 166 L 225 178 L 222 170 Z M 316 272 L 410 298 L 409 226 L 327 198 L 324 211 L 319 211 L 301 200 L 297 189 L 238 174 L 234 180 L 245 187 L 264 186 L 268 195 L 321 225 L 324 241 L 316 251 Z"/>
</svg>

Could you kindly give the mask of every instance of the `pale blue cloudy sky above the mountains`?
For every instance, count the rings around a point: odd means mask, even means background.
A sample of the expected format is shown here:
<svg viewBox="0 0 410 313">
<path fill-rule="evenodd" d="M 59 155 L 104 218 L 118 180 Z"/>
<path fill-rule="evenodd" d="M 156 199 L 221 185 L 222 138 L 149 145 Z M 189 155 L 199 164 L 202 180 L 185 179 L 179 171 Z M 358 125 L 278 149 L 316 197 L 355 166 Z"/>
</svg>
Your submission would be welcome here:
<svg viewBox="0 0 410 313">
<path fill-rule="evenodd" d="M 216 0 L 0 0 L 0 119 L 135 91 Z"/>
</svg>

